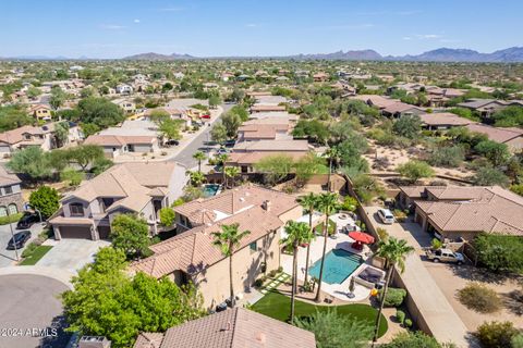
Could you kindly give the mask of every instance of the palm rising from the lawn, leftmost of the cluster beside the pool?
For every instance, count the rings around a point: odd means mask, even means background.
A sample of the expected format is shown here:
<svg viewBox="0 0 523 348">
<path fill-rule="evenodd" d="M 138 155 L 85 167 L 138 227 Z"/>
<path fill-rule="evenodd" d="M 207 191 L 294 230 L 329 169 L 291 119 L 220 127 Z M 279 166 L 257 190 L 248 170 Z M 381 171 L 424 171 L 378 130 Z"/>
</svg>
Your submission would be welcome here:
<svg viewBox="0 0 523 348">
<path fill-rule="evenodd" d="M 291 290 L 291 316 L 290 322 L 294 321 L 294 298 L 296 297 L 297 286 L 297 247 L 303 243 L 311 243 L 313 233 L 304 222 L 289 221 L 285 226 L 287 237 L 280 240 L 285 249 L 292 250 L 292 290 Z"/>
</svg>

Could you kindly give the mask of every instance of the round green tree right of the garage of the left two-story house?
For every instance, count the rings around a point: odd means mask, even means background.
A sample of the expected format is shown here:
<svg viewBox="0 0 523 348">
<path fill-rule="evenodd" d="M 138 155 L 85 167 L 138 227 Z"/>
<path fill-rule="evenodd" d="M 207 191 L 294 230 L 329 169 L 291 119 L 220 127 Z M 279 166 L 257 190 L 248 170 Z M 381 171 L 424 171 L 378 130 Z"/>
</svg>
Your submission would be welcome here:
<svg viewBox="0 0 523 348">
<path fill-rule="evenodd" d="M 150 244 L 147 222 L 133 214 L 118 214 L 111 223 L 110 237 L 112 246 L 123 250 L 129 259 L 142 257 Z"/>
</svg>

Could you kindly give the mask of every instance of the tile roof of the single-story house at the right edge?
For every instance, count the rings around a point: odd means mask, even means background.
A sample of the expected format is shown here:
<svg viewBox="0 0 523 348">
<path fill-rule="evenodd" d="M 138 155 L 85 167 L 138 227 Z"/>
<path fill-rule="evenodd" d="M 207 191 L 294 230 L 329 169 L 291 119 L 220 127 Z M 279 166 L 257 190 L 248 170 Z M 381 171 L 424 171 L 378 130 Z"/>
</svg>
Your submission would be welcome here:
<svg viewBox="0 0 523 348">
<path fill-rule="evenodd" d="M 441 231 L 523 236 L 523 197 L 499 186 L 427 188 L 438 200 L 416 206 Z"/>
</svg>

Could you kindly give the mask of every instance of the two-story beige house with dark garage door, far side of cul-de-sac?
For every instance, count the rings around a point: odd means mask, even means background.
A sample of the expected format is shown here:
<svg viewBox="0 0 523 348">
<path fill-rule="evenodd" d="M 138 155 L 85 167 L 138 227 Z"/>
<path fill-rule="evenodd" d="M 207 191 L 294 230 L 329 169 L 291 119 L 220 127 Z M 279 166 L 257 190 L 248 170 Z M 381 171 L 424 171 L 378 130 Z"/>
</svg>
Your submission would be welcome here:
<svg viewBox="0 0 523 348">
<path fill-rule="evenodd" d="M 106 239 L 117 214 L 145 219 L 151 235 L 158 232 L 158 211 L 183 195 L 186 167 L 175 162 L 123 163 L 85 182 L 61 200 L 49 220 L 56 239 Z"/>
</svg>

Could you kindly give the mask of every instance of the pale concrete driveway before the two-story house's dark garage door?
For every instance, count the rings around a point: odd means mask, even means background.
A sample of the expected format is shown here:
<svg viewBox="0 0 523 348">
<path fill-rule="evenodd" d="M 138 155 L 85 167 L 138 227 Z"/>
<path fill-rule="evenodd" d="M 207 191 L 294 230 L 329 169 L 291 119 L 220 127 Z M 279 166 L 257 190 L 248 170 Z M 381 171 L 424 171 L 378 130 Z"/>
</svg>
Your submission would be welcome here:
<svg viewBox="0 0 523 348">
<path fill-rule="evenodd" d="M 46 240 L 45 245 L 52 245 L 53 247 L 38 261 L 38 266 L 56 268 L 75 273 L 86 263 L 93 262 L 98 249 L 109 246 L 110 243 L 87 239 L 49 239 Z"/>
</svg>

